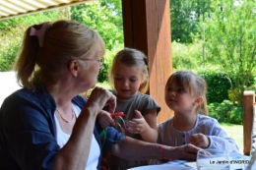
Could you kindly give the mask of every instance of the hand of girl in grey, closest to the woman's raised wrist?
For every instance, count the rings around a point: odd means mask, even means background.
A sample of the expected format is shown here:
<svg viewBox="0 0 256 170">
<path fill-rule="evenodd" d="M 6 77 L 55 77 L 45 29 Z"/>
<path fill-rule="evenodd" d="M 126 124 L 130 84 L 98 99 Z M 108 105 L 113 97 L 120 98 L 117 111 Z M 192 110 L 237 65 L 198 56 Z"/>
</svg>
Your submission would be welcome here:
<svg viewBox="0 0 256 170">
<path fill-rule="evenodd" d="M 109 126 L 114 126 L 114 120 L 111 117 L 111 114 L 101 110 L 98 114 L 97 114 L 97 119 L 98 119 L 98 123 L 101 126 L 101 128 L 105 129 Z"/>
</svg>

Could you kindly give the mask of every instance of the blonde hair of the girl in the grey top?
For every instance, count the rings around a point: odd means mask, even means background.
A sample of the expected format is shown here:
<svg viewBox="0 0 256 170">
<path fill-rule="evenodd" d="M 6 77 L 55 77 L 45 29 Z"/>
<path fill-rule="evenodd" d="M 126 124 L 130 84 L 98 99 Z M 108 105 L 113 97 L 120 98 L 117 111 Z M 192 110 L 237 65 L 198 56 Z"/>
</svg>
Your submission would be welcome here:
<svg viewBox="0 0 256 170">
<path fill-rule="evenodd" d="M 112 62 L 112 66 L 108 72 L 109 84 L 114 88 L 114 75 L 116 74 L 117 66 L 123 64 L 128 67 L 136 66 L 141 69 L 142 78 L 144 82 L 140 85 L 139 91 L 146 93 L 149 88 L 149 71 L 148 60 L 146 55 L 133 48 L 124 48 L 119 51 Z"/>
</svg>

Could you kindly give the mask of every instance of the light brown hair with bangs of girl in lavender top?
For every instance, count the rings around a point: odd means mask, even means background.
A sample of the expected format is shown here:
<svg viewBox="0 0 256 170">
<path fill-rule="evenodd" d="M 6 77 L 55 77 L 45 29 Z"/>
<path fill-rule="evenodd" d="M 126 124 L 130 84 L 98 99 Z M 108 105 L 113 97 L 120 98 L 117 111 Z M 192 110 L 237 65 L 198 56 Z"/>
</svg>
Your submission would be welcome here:
<svg viewBox="0 0 256 170">
<path fill-rule="evenodd" d="M 202 77 L 194 74 L 191 71 L 175 72 L 169 77 L 165 85 L 165 93 L 167 85 L 170 83 L 175 83 L 178 86 L 182 86 L 184 89 L 188 90 L 191 96 L 202 96 L 204 98 L 204 102 L 198 105 L 196 112 L 203 115 L 208 115 L 206 98 L 207 85 Z"/>
</svg>

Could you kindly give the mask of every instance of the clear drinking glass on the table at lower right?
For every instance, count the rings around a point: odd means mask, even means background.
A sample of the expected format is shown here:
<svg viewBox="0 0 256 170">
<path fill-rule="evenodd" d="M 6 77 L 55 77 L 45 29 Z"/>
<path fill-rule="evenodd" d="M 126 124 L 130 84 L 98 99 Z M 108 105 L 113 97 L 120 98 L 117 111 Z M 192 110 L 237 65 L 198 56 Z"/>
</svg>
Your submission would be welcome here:
<svg viewBox="0 0 256 170">
<path fill-rule="evenodd" d="M 229 156 L 219 149 L 202 149 L 197 152 L 198 170 L 228 170 Z"/>
</svg>

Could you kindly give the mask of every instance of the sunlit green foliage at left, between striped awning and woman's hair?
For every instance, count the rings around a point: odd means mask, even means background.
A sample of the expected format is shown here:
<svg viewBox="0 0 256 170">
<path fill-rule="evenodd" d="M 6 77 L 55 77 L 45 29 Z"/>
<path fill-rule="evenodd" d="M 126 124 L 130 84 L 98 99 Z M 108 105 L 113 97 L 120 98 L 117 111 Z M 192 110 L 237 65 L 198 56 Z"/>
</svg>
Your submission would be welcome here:
<svg viewBox="0 0 256 170">
<path fill-rule="evenodd" d="M 46 21 L 50 22 L 56 19 L 63 19 L 63 16 L 59 15 L 63 10 L 65 9 L 1 21 L 0 71 L 6 72 L 13 69 L 26 28 Z"/>
</svg>

